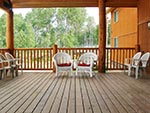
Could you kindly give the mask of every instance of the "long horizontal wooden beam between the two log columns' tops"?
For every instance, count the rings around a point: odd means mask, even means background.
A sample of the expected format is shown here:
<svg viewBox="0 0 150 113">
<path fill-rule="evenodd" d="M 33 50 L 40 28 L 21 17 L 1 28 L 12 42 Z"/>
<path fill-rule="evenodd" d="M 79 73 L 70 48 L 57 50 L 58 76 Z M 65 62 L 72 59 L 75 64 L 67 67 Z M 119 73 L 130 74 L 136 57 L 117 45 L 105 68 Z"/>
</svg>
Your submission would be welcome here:
<svg viewBox="0 0 150 113">
<path fill-rule="evenodd" d="M 98 7 L 98 0 L 12 0 L 13 8 Z"/>
</svg>

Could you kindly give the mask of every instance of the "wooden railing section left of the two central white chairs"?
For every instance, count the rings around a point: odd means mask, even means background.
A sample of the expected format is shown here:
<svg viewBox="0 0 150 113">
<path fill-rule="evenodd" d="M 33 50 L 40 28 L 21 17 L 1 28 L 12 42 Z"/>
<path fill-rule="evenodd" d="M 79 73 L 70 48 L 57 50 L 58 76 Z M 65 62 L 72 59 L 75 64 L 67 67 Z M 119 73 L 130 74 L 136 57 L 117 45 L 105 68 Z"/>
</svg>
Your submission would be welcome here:
<svg viewBox="0 0 150 113">
<path fill-rule="evenodd" d="M 24 70 L 53 69 L 53 48 L 15 49 L 14 56 L 21 59 Z"/>
</svg>

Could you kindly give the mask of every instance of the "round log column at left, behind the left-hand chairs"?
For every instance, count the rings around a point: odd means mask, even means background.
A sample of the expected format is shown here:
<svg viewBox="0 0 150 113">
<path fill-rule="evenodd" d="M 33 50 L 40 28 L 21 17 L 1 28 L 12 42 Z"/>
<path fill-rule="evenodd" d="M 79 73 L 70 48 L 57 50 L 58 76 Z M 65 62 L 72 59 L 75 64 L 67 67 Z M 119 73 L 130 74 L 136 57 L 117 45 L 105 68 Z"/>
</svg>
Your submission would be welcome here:
<svg viewBox="0 0 150 113">
<path fill-rule="evenodd" d="M 13 11 L 10 10 L 6 13 L 6 45 L 10 50 L 10 53 L 13 53 L 14 50 L 14 28 L 13 28 Z"/>
</svg>

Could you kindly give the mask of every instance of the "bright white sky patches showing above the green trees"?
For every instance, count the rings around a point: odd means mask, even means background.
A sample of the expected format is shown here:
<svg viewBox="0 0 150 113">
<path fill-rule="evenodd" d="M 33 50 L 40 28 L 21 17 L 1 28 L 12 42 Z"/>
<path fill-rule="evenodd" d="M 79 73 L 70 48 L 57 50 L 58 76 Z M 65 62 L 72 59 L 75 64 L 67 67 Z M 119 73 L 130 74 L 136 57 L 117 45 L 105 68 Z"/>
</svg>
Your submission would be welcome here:
<svg viewBox="0 0 150 113">
<path fill-rule="evenodd" d="M 99 22 L 98 8 L 90 7 L 90 8 L 86 8 L 86 10 L 87 10 L 87 14 L 89 16 L 93 16 L 94 20 L 95 20 L 95 23 L 98 24 L 98 22 Z M 14 14 L 21 13 L 23 16 L 25 16 L 27 12 L 31 11 L 31 9 L 29 9 L 29 8 L 21 8 L 21 9 L 13 9 L 13 11 L 14 11 Z M 0 15 L 2 15 L 3 13 L 4 13 L 4 11 L 0 10 Z"/>
</svg>

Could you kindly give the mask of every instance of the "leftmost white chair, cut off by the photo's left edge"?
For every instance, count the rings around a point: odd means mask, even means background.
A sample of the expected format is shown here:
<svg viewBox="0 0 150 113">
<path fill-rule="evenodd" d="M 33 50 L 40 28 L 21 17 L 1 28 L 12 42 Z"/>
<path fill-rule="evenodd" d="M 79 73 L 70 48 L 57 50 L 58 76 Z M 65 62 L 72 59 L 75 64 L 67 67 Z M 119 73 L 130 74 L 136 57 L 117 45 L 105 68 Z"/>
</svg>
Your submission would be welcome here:
<svg viewBox="0 0 150 113">
<path fill-rule="evenodd" d="M 12 77 L 14 77 L 14 72 L 13 72 L 12 67 L 9 64 L 9 61 L 6 60 L 5 56 L 3 54 L 1 54 L 1 53 L 0 53 L 0 63 L 1 63 L 1 68 L 0 68 L 0 70 L 1 70 L 1 78 L 3 78 L 2 74 L 4 75 L 4 79 L 6 78 L 7 70 L 10 70 Z"/>
</svg>

